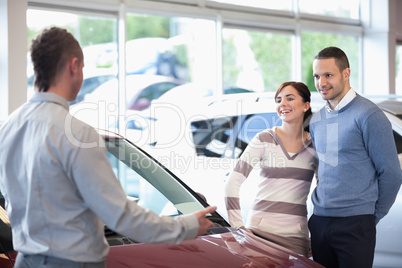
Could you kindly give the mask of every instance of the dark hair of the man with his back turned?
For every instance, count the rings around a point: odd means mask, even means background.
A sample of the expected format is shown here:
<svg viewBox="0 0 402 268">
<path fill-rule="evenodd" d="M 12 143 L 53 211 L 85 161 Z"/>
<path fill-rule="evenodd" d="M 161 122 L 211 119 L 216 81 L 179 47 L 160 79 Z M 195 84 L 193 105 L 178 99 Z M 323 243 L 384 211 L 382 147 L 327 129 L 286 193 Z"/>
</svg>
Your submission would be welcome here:
<svg viewBox="0 0 402 268">
<path fill-rule="evenodd" d="M 72 57 L 83 60 L 81 47 L 71 33 L 58 27 L 43 30 L 31 44 L 35 87 L 46 92 Z"/>
</svg>

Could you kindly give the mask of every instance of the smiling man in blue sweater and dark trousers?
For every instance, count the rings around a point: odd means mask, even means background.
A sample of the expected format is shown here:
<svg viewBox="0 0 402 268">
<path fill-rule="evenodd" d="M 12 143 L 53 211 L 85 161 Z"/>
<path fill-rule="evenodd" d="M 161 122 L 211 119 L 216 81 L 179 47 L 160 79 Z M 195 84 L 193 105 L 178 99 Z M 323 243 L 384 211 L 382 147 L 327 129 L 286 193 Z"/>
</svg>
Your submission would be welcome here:
<svg viewBox="0 0 402 268">
<path fill-rule="evenodd" d="M 326 105 L 310 133 L 318 157 L 309 220 L 313 259 L 325 267 L 372 267 L 376 224 L 395 201 L 402 174 L 391 124 L 350 87 L 346 54 L 327 47 L 314 58 Z"/>
</svg>

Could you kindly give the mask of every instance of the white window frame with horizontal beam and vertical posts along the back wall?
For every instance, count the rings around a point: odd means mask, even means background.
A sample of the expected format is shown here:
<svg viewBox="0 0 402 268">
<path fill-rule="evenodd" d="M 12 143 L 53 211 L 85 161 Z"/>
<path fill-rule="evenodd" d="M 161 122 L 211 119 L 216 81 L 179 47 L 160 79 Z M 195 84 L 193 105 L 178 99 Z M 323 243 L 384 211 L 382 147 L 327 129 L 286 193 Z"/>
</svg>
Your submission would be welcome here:
<svg viewBox="0 0 402 268">
<path fill-rule="evenodd" d="M 221 60 L 219 49 L 222 48 L 222 39 L 219 38 L 221 30 L 228 25 L 241 26 L 242 28 L 252 28 L 265 31 L 292 31 L 294 32 L 294 79 L 301 79 L 301 33 L 307 30 L 321 32 L 331 32 L 337 34 L 354 34 L 363 38 L 364 26 L 362 15 L 359 20 L 339 19 L 336 17 L 325 17 L 320 15 L 311 15 L 299 13 L 297 11 L 297 1 L 294 0 L 293 10 L 286 12 L 283 10 L 269 10 L 244 8 L 226 3 L 218 3 L 208 0 L 127 0 L 124 2 L 116 0 L 81 0 L 81 1 L 62 1 L 62 0 L 29 0 L 28 8 L 69 11 L 77 14 L 110 16 L 118 19 L 118 46 L 120 57 L 124 58 L 124 46 L 119 44 L 125 42 L 125 20 L 128 12 L 151 13 L 154 15 L 166 16 L 185 16 L 190 18 L 211 19 L 216 21 L 217 27 L 217 70 L 218 75 Z M 361 1 L 360 4 L 362 4 Z M 157 4 L 156 4 L 157 3 Z M 367 7 L 366 7 L 367 8 Z M 361 8 L 360 8 L 361 9 Z M 362 55 L 359 61 L 362 62 Z M 361 63 L 360 63 L 361 64 Z M 125 74 L 124 68 L 119 69 L 119 80 L 124 87 Z M 363 79 L 360 78 L 359 84 L 364 87 Z M 219 79 L 218 79 L 219 84 Z M 6 100 L 5 100 L 6 101 Z M 0 118 L 3 119 L 3 118 Z M 5 118 L 4 118 L 5 119 Z"/>
</svg>

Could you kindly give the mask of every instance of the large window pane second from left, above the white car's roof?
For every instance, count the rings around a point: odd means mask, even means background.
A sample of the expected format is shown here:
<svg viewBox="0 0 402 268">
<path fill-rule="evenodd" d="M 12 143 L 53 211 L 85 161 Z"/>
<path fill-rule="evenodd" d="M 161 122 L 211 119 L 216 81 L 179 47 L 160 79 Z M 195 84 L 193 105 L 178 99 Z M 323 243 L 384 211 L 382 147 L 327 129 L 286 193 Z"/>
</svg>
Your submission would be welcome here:
<svg viewBox="0 0 402 268">
<path fill-rule="evenodd" d="M 215 22 L 184 17 L 127 15 L 126 101 L 144 110 L 176 86 L 216 87 Z"/>
</svg>

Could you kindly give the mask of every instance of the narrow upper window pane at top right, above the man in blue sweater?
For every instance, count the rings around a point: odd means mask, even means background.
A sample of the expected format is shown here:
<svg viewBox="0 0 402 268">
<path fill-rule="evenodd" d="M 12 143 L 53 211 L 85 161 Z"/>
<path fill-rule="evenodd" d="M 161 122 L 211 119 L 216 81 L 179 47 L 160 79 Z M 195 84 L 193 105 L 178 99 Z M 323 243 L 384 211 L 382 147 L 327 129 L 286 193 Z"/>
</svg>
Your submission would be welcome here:
<svg viewBox="0 0 402 268">
<path fill-rule="evenodd" d="M 359 5 L 360 0 L 302 0 L 299 10 L 314 15 L 359 19 Z"/>
</svg>

